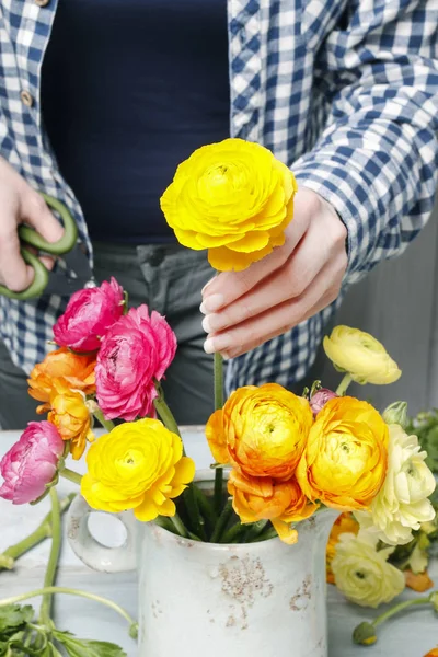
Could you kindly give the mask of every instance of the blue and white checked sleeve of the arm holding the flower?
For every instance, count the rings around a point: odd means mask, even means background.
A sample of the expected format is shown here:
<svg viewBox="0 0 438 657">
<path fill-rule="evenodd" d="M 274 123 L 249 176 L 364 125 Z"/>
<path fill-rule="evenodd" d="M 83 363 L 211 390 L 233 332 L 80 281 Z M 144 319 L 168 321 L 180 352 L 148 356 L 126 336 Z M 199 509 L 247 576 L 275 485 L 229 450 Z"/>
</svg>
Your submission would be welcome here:
<svg viewBox="0 0 438 657">
<path fill-rule="evenodd" d="M 293 165 L 348 231 L 345 283 L 400 254 L 427 222 L 438 170 L 438 5 L 355 0 L 316 55 L 325 129 Z"/>
</svg>

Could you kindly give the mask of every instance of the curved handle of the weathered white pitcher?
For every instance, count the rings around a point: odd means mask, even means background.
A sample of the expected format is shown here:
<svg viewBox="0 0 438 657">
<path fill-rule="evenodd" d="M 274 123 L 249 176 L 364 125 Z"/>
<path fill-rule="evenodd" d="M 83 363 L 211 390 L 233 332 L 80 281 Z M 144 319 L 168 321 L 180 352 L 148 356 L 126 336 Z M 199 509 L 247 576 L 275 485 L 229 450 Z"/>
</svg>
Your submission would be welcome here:
<svg viewBox="0 0 438 657">
<path fill-rule="evenodd" d="M 126 540 L 119 548 L 106 548 L 92 535 L 89 529 L 89 516 L 95 511 L 85 499 L 78 495 L 68 511 L 67 538 L 74 554 L 90 568 L 102 573 L 124 573 L 135 570 L 136 563 L 136 521 L 132 514 L 108 514 L 117 518 L 126 528 Z"/>
</svg>

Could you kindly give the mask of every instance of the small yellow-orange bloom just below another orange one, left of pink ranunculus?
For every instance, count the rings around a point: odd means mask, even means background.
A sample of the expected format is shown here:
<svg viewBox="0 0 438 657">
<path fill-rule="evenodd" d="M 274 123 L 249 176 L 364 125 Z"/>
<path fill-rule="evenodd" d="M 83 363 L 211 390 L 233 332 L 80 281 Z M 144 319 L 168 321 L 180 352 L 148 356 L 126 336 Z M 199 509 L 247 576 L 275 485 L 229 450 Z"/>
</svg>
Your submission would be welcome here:
<svg viewBox="0 0 438 657">
<path fill-rule="evenodd" d="M 54 385 L 49 400 L 51 411 L 47 419 L 57 427 L 62 440 L 70 440 L 70 453 L 79 460 L 87 440 L 91 442 L 94 439 L 85 395 L 80 390 L 70 390 L 60 379 L 54 379 Z"/>
</svg>

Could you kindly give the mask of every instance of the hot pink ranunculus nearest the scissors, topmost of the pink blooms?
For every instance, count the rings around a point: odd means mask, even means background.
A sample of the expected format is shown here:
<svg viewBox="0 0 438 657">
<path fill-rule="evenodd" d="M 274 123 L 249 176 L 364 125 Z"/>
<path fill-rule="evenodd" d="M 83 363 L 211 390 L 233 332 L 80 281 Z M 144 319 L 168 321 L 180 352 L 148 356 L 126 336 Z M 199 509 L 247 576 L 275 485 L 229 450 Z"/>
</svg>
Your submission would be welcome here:
<svg viewBox="0 0 438 657">
<path fill-rule="evenodd" d="M 84 288 L 72 295 L 54 326 L 55 342 L 73 351 L 95 351 L 102 337 L 124 313 L 124 290 L 117 280 Z"/>
</svg>

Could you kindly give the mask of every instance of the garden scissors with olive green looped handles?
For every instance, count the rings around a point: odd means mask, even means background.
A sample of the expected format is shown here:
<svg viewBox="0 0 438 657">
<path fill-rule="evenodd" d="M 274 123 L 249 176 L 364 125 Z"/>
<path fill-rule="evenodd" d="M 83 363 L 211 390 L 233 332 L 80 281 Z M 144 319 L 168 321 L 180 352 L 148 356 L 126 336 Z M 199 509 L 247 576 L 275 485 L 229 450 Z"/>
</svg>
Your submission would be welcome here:
<svg viewBox="0 0 438 657">
<path fill-rule="evenodd" d="M 12 292 L 5 286 L 0 285 L 0 296 L 9 299 L 26 301 L 42 295 L 71 295 L 83 288 L 92 287 L 94 284 L 92 270 L 87 254 L 78 243 L 78 228 L 68 208 L 58 199 L 47 194 L 42 194 L 49 208 L 58 212 L 64 223 L 64 235 L 58 242 L 47 242 L 33 228 L 19 226 L 19 238 L 21 255 L 23 260 L 34 268 L 35 276 L 27 289 L 22 292 Z M 62 256 L 64 261 L 56 272 L 48 272 L 41 260 L 26 249 L 26 244 L 48 253 Z"/>
</svg>

